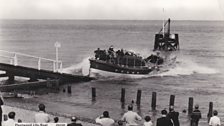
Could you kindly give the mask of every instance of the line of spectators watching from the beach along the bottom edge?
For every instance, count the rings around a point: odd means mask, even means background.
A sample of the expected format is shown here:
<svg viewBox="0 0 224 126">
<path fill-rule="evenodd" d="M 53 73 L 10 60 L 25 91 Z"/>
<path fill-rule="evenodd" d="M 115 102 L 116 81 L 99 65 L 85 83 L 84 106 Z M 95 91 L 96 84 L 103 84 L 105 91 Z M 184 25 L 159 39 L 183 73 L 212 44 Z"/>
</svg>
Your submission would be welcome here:
<svg viewBox="0 0 224 126">
<path fill-rule="evenodd" d="M 0 99 L 1 105 L 3 105 L 3 100 Z M 34 123 L 59 123 L 59 118 L 54 117 L 53 121 L 49 114 L 46 113 L 45 105 L 39 104 L 39 112 L 34 115 Z M 2 109 L 1 109 L 1 119 L 2 119 Z M 3 121 L 0 120 L 0 126 L 17 126 L 19 123 L 23 123 L 21 119 L 15 120 L 16 113 L 11 111 L 8 116 L 4 116 Z M 24 117 L 26 118 L 26 117 Z M 195 109 L 190 115 L 190 126 L 198 126 L 199 120 L 202 118 L 201 111 L 199 110 L 199 105 L 195 105 Z M 140 124 L 139 121 L 144 120 L 144 123 Z M 123 114 L 120 120 L 115 121 L 110 117 L 109 111 L 104 111 L 102 115 L 95 119 L 95 123 L 101 126 L 180 126 L 179 122 L 179 112 L 174 110 L 174 106 L 169 107 L 169 112 L 166 109 L 161 111 L 161 117 L 152 121 L 150 115 L 146 115 L 143 119 L 137 112 L 133 111 L 133 104 L 128 105 L 128 111 Z M 17 125 L 16 125 L 17 124 Z M 78 122 L 76 116 L 71 117 L 71 122 L 66 124 L 67 126 L 82 126 L 83 124 Z M 221 126 L 220 118 L 218 117 L 218 112 L 213 111 L 213 116 L 209 120 L 209 126 Z"/>
</svg>

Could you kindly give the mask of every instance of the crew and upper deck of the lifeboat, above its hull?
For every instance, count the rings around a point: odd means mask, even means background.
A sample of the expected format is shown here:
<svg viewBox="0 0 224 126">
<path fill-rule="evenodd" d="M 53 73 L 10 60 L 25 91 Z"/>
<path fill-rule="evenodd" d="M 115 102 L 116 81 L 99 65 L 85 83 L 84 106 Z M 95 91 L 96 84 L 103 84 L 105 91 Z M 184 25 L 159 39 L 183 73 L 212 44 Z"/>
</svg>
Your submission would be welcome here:
<svg viewBox="0 0 224 126">
<path fill-rule="evenodd" d="M 108 50 L 102 50 L 98 48 L 94 51 L 95 59 L 110 62 L 117 65 L 126 66 L 145 66 L 148 63 L 160 65 L 164 62 L 163 58 L 157 54 L 151 54 L 149 57 L 143 59 L 139 54 L 131 51 L 119 49 L 114 50 L 113 46 L 110 46 Z"/>
</svg>

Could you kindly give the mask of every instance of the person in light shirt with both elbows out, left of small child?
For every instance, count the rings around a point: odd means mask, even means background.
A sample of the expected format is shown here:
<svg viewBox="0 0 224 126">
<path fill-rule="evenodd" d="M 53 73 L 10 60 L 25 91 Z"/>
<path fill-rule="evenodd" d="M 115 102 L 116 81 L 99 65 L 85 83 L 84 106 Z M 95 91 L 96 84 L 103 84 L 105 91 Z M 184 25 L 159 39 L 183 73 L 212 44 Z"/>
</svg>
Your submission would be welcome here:
<svg viewBox="0 0 224 126">
<path fill-rule="evenodd" d="M 128 112 L 126 112 L 123 117 L 121 118 L 126 123 L 126 126 L 135 126 L 138 125 L 137 121 L 142 120 L 142 118 L 136 113 L 133 112 L 133 106 L 129 105 L 128 106 Z"/>
</svg>

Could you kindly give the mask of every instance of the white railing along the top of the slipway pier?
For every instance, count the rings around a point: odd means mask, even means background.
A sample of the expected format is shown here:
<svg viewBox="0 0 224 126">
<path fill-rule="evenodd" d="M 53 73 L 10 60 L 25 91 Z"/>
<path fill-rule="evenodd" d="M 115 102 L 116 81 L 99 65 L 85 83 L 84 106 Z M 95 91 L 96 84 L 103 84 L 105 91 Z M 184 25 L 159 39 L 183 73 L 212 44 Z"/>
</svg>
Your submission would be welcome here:
<svg viewBox="0 0 224 126">
<path fill-rule="evenodd" d="M 17 65 L 24 66 L 24 64 L 19 64 L 18 63 L 18 57 L 19 56 L 27 57 L 27 58 L 30 58 L 30 59 L 31 58 L 36 59 L 36 62 L 37 62 L 36 68 L 38 70 L 42 69 L 42 62 L 47 61 L 47 62 L 50 62 L 52 64 L 52 66 L 53 66 L 52 70 L 54 72 L 60 72 L 60 73 L 62 72 L 62 61 L 60 61 L 60 60 L 57 61 L 57 60 L 54 60 L 54 59 L 48 59 L 48 58 L 33 56 L 33 55 L 19 53 L 19 52 L 10 52 L 10 51 L 5 51 L 5 50 L 0 50 L 0 58 L 8 59 L 9 63 L 14 65 L 14 66 L 17 66 Z"/>
</svg>

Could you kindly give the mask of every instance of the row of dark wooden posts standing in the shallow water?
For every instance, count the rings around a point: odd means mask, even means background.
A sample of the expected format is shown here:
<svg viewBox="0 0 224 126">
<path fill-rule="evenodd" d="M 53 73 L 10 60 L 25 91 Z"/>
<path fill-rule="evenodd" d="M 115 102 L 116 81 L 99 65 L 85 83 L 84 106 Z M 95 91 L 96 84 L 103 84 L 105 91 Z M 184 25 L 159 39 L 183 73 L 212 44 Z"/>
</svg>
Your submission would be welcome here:
<svg viewBox="0 0 224 126">
<path fill-rule="evenodd" d="M 68 91 L 69 94 L 72 93 L 70 85 L 67 87 L 67 91 Z M 141 104 L 141 94 L 142 94 L 142 91 L 138 90 L 137 91 L 137 99 L 136 99 L 136 104 L 138 106 L 140 106 L 140 104 Z M 156 97 L 157 97 L 157 93 L 152 92 L 152 102 L 151 102 L 152 110 L 156 110 Z M 92 87 L 92 100 L 93 101 L 96 100 L 96 88 L 94 88 L 94 87 Z M 120 101 L 121 101 L 122 104 L 125 103 L 125 89 L 124 88 L 121 89 L 121 99 L 120 99 Z M 169 106 L 174 106 L 174 103 L 175 103 L 175 95 L 170 95 Z M 189 97 L 188 115 L 192 114 L 193 105 L 194 105 L 194 99 L 193 99 L 193 97 Z M 208 114 L 207 114 L 208 120 L 210 119 L 210 117 L 212 117 L 212 112 L 213 112 L 213 102 L 209 102 L 209 111 L 208 111 Z"/>
</svg>

